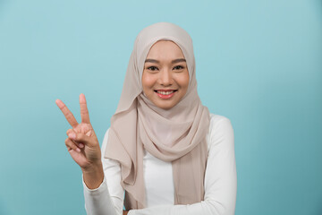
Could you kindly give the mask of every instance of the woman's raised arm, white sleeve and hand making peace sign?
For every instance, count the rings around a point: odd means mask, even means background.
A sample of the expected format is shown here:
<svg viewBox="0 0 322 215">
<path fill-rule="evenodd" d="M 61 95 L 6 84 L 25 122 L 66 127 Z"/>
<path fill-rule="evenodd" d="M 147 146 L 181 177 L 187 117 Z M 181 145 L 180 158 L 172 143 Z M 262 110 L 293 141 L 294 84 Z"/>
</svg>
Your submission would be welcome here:
<svg viewBox="0 0 322 215">
<path fill-rule="evenodd" d="M 104 159 L 102 164 L 102 156 L 97 135 L 89 121 L 89 110 L 84 94 L 80 94 L 80 116 L 81 123 L 78 123 L 72 112 L 65 106 L 60 99 L 55 100 L 56 105 L 63 112 L 67 122 L 72 125 L 72 129 L 67 131 L 68 137 L 65 145 L 72 159 L 80 166 L 83 173 L 83 185 L 85 194 L 85 208 L 88 214 L 122 214 L 117 198 L 113 196 L 114 189 L 119 189 L 120 178 L 117 179 L 118 184 L 111 185 L 110 191 L 107 190 Z M 103 150 L 104 151 L 104 150 Z M 117 168 L 111 169 L 117 175 Z M 108 173 L 111 171 L 107 171 Z M 120 175 L 118 173 L 118 175 Z M 106 175 L 108 178 L 107 185 L 114 182 L 114 175 Z M 112 192 L 111 192 L 112 190 Z M 119 189 L 120 190 L 120 189 Z M 121 187 L 122 190 L 122 187 Z M 110 193 L 111 192 L 111 197 Z M 120 198 L 123 198 L 121 195 Z M 123 200 L 122 203 L 123 204 Z"/>
</svg>

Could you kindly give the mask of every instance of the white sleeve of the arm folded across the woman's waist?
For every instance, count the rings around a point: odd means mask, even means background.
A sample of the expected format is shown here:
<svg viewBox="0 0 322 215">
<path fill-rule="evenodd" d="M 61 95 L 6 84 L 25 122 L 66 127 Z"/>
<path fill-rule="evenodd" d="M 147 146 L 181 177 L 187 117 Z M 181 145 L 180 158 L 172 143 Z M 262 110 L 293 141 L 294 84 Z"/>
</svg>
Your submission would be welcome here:
<svg viewBox="0 0 322 215">
<path fill-rule="evenodd" d="M 209 127 L 204 201 L 190 205 L 160 205 L 131 210 L 128 215 L 233 215 L 237 193 L 233 126 L 225 116 L 213 116 Z"/>
</svg>

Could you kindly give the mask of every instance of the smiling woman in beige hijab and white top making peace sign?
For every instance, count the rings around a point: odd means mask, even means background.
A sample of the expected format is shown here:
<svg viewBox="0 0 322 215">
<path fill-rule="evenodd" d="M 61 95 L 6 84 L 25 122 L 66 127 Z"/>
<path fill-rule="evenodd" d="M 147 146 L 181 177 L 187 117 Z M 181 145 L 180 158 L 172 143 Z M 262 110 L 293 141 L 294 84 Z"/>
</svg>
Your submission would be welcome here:
<svg viewBox="0 0 322 215">
<path fill-rule="evenodd" d="M 80 124 L 56 104 L 72 125 L 65 143 L 88 214 L 234 214 L 233 127 L 202 106 L 192 40 L 179 26 L 140 31 L 102 150 L 84 95 Z"/>
</svg>

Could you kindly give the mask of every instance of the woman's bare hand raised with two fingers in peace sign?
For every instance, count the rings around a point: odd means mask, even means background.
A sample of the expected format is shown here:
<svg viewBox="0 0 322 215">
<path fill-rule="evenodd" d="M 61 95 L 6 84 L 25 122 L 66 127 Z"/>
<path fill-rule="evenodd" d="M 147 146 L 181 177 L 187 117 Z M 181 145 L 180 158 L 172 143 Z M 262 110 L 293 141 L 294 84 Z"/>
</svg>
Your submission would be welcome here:
<svg viewBox="0 0 322 215">
<path fill-rule="evenodd" d="M 80 166 L 81 170 L 90 171 L 101 167 L 101 151 L 92 125 L 89 122 L 89 110 L 84 94 L 80 94 L 79 124 L 72 112 L 64 105 L 63 101 L 56 99 L 56 105 L 62 110 L 72 129 L 67 130 L 68 138 L 65 144 L 72 159 Z"/>
</svg>

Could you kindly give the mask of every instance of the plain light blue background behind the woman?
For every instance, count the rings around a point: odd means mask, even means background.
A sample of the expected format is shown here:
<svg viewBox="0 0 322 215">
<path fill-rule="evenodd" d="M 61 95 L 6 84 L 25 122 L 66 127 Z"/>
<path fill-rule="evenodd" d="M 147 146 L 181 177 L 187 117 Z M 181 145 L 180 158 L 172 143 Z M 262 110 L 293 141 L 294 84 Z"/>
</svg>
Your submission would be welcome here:
<svg viewBox="0 0 322 215">
<path fill-rule="evenodd" d="M 191 34 L 199 96 L 232 121 L 236 214 L 322 214 L 320 0 L 0 0 L 0 214 L 85 214 L 55 99 L 80 119 L 84 93 L 101 142 L 155 22 Z"/>
</svg>

